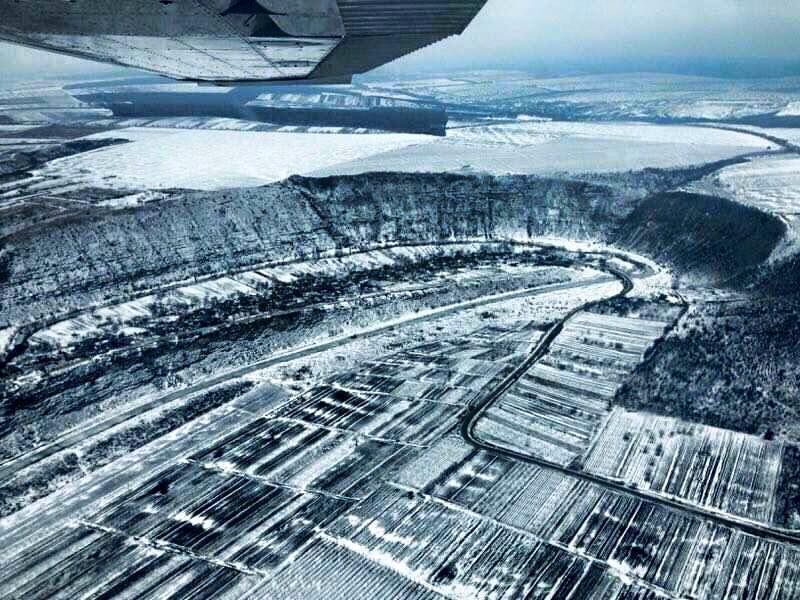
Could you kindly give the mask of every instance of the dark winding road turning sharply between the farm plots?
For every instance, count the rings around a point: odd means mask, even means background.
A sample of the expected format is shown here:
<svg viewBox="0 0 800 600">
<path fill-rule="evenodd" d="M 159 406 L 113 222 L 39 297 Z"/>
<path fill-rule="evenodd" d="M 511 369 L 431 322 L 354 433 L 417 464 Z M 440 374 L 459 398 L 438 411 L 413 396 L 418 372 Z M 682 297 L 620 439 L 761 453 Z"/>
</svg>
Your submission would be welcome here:
<svg viewBox="0 0 800 600">
<path fill-rule="evenodd" d="M 605 270 L 608 273 L 611 273 L 615 277 L 619 278 L 623 283 L 622 291 L 616 296 L 613 296 L 612 299 L 621 298 L 623 296 L 628 295 L 631 292 L 631 290 L 633 289 L 633 281 L 627 274 L 612 267 L 606 267 Z M 502 396 L 502 394 L 506 390 L 508 390 L 514 383 L 516 383 L 516 381 L 520 377 L 522 377 L 522 375 L 524 375 L 528 371 L 528 369 L 531 366 L 533 366 L 534 363 L 536 363 L 540 358 L 542 358 L 542 356 L 545 355 L 545 353 L 547 353 L 555 338 L 558 337 L 558 334 L 561 333 L 561 331 L 564 329 L 564 325 L 566 324 L 566 322 L 578 312 L 585 310 L 587 308 L 591 308 L 592 306 L 604 301 L 605 300 L 599 300 L 585 304 L 582 307 L 571 311 L 568 315 L 566 315 L 563 319 L 561 319 L 558 323 L 556 323 L 553 327 L 551 327 L 550 330 L 545 334 L 545 336 L 539 341 L 539 344 L 537 345 L 535 350 L 519 367 L 517 367 L 511 374 L 509 374 L 508 377 L 506 377 L 503 381 L 501 381 L 498 384 L 498 386 L 495 389 L 493 389 L 489 394 L 484 396 L 477 405 L 471 405 L 467 408 L 467 412 L 465 413 L 464 419 L 461 423 L 462 437 L 468 443 L 470 443 L 472 446 L 478 449 L 485 450 L 493 454 L 506 456 L 513 460 L 520 460 L 527 463 L 531 463 L 543 469 L 558 471 L 569 477 L 581 479 L 583 481 L 587 481 L 589 483 L 602 486 L 613 492 L 626 494 L 628 496 L 633 496 L 640 500 L 644 500 L 651 503 L 662 504 L 673 510 L 683 513 L 689 513 L 693 516 L 697 516 L 702 519 L 714 521 L 715 523 L 718 523 L 720 525 L 729 527 L 731 529 L 736 529 L 756 537 L 769 538 L 771 540 L 783 543 L 790 543 L 790 544 L 800 543 L 800 532 L 793 532 L 791 530 L 781 529 L 778 527 L 761 525 L 755 521 L 740 519 L 733 515 L 718 513 L 713 510 L 703 508 L 702 506 L 691 504 L 689 502 L 682 502 L 680 500 L 673 500 L 671 498 L 667 498 L 657 494 L 644 492 L 629 487 L 618 481 L 606 479 L 605 477 L 600 477 L 598 475 L 593 475 L 592 473 L 587 473 L 586 471 L 583 470 L 565 467 L 558 463 L 550 462 L 548 460 L 536 456 L 523 454 L 521 452 L 516 452 L 514 450 L 509 450 L 507 448 L 496 446 L 495 444 L 484 442 L 483 440 L 476 437 L 475 426 L 478 420 L 480 420 L 480 418 L 483 416 L 484 412 L 486 412 L 486 410 L 488 410 L 491 404 L 498 398 L 500 398 L 500 396 Z"/>
</svg>

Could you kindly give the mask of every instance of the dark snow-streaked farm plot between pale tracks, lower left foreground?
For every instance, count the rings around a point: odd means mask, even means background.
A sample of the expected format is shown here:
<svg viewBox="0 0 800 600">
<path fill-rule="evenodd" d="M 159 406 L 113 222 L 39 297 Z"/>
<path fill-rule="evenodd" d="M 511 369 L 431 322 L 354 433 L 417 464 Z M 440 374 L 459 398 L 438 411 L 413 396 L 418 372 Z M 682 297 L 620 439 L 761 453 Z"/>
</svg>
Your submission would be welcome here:
<svg viewBox="0 0 800 600">
<path fill-rule="evenodd" d="M 87 519 L 133 539 L 268 574 L 352 500 L 175 464 Z"/>
</svg>

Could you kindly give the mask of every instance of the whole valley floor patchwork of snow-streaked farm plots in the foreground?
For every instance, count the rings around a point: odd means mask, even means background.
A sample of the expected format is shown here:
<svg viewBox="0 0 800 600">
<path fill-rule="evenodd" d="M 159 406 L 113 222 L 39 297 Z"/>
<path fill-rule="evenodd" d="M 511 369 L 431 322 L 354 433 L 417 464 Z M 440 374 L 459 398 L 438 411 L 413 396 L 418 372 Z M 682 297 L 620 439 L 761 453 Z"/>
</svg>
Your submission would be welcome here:
<svg viewBox="0 0 800 600">
<path fill-rule="evenodd" d="M 0 594 L 794 597 L 782 444 L 611 408 L 682 312 L 615 264 L 301 349 L 357 356 L 296 393 L 230 373 L 258 385 L 0 521 Z"/>
</svg>

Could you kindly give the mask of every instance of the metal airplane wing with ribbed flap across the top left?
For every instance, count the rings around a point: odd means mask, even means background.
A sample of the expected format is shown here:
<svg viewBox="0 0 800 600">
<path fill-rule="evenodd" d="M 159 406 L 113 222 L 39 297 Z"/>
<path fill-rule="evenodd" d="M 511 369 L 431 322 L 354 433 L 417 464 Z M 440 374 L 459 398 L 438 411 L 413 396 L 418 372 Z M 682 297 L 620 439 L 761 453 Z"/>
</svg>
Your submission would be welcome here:
<svg viewBox="0 0 800 600">
<path fill-rule="evenodd" d="M 0 39 L 209 82 L 349 82 L 486 0 L 0 0 Z"/>
</svg>

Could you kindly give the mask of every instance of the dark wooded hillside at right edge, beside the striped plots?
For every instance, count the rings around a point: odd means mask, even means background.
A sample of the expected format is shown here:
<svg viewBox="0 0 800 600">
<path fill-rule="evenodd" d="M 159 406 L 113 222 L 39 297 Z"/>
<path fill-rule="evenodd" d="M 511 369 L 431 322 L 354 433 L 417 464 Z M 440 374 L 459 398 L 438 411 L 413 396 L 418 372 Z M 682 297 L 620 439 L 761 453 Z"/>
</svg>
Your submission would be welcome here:
<svg viewBox="0 0 800 600">
<path fill-rule="evenodd" d="M 750 279 L 740 299 L 697 307 L 639 366 L 617 401 L 800 442 L 798 281 L 794 257 Z"/>
</svg>

